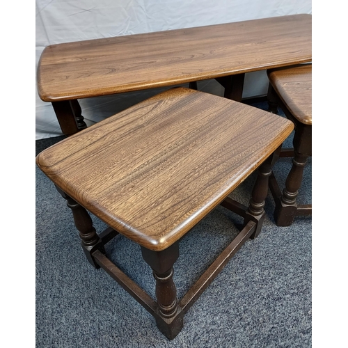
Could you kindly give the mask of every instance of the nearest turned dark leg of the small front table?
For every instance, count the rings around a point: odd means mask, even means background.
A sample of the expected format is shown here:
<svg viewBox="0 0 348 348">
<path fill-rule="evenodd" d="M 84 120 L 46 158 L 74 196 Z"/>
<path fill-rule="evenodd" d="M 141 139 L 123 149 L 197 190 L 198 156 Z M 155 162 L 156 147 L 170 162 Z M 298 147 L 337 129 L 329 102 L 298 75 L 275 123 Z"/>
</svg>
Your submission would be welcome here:
<svg viewBox="0 0 348 348">
<path fill-rule="evenodd" d="M 156 323 L 167 338 L 173 340 L 181 331 L 183 316 L 177 306 L 177 292 L 173 282 L 173 264 L 179 257 L 179 244 L 176 242 L 164 251 L 150 251 L 141 247 L 143 259 L 152 268 L 156 280 L 158 315 Z"/>
</svg>

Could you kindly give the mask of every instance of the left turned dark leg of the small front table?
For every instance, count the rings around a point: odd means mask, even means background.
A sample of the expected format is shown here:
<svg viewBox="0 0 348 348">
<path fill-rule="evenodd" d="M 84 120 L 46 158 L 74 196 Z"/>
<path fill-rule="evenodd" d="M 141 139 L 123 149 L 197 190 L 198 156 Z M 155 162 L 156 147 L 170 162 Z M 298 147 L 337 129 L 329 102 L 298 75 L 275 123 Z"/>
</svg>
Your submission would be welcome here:
<svg viewBox="0 0 348 348">
<path fill-rule="evenodd" d="M 74 216 L 74 223 L 79 230 L 79 236 L 81 238 L 81 246 L 86 254 L 86 258 L 90 264 L 95 268 L 100 268 L 100 266 L 95 262 L 92 254 L 99 250 L 102 253 L 104 251 L 104 245 L 102 244 L 102 239 L 97 235 L 95 228 L 93 227 L 92 219 L 87 210 L 79 205 L 75 200 L 68 196 L 64 191 L 56 187 L 58 192 L 61 193 L 63 198 L 67 200 L 67 205 L 72 210 L 72 216 Z"/>
</svg>

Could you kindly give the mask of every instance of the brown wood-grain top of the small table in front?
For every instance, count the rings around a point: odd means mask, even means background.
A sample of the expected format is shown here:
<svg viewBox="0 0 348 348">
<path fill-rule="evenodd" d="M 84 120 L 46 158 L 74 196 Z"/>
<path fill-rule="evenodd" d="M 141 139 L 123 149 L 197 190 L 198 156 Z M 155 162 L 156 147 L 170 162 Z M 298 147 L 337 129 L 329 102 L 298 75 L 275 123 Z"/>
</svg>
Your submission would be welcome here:
<svg viewBox="0 0 348 348">
<path fill-rule="evenodd" d="M 134 242 L 171 246 L 292 132 L 290 120 L 173 88 L 36 157 L 65 193 Z"/>
</svg>

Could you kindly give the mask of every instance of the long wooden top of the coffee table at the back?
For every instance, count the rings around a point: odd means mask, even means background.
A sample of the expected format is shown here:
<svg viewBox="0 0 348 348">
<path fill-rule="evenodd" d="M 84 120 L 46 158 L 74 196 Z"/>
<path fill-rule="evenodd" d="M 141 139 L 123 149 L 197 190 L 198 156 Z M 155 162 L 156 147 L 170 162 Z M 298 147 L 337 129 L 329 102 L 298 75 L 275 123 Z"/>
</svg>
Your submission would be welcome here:
<svg viewBox="0 0 348 348">
<path fill-rule="evenodd" d="M 50 45 L 45 102 L 173 86 L 312 61 L 312 15 L 287 15 Z"/>
</svg>

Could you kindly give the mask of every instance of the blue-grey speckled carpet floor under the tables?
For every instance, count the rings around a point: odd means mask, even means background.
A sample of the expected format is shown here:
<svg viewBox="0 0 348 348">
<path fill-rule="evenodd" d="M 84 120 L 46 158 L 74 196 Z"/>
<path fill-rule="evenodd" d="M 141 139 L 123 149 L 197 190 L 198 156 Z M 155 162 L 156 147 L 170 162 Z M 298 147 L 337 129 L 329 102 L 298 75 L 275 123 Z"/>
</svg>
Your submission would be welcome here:
<svg viewBox="0 0 348 348">
<path fill-rule="evenodd" d="M 36 152 L 63 138 L 36 141 Z M 280 187 L 290 166 L 287 158 L 274 166 Z M 311 203 L 311 175 L 310 159 L 299 203 Z M 255 174 L 248 177 L 232 198 L 247 205 L 254 180 Z M 184 329 L 169 341 L 139 303 L 86 261 L 70 209 L 36 168 L 36 347 L 311 347 L 312 220 L 296 217 L 292 226 L 277 227 L 270 193 L 265 210 L 259 237 L 228 262 L 185 315 Z M 104 223 L 92 217 L 101 232 Z M 174 274 L 179 298 L 237 235 L 241 223 L 219 206 L 182 239 Z M 119 236 L 106 251 L 155 298 L 155 280 L 139 246 Z"/>
</svg>

